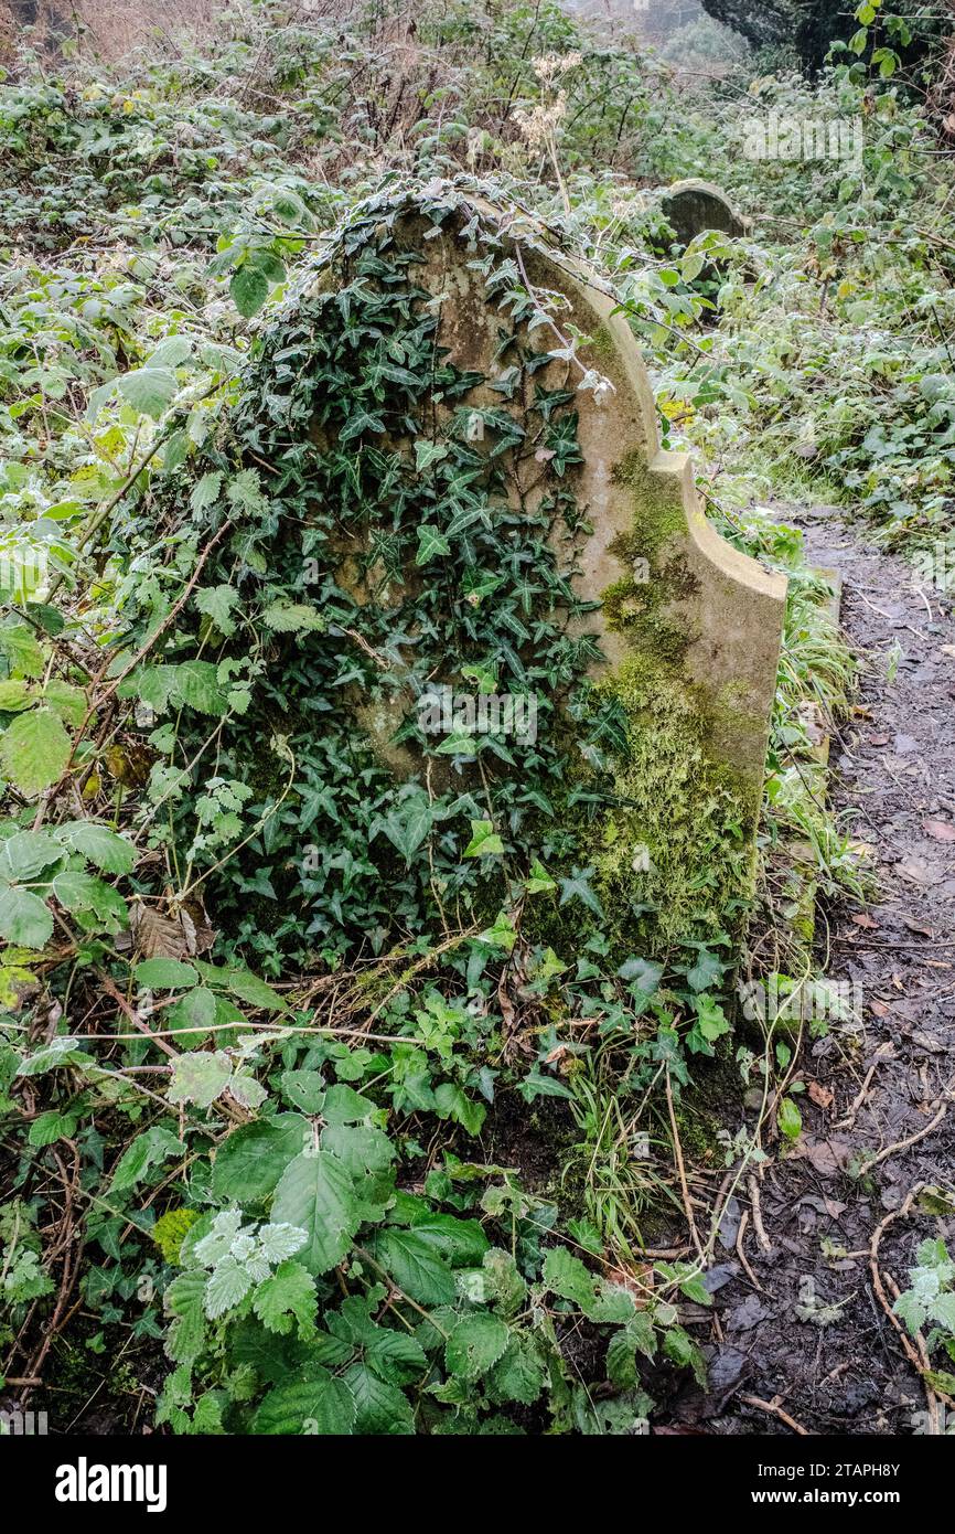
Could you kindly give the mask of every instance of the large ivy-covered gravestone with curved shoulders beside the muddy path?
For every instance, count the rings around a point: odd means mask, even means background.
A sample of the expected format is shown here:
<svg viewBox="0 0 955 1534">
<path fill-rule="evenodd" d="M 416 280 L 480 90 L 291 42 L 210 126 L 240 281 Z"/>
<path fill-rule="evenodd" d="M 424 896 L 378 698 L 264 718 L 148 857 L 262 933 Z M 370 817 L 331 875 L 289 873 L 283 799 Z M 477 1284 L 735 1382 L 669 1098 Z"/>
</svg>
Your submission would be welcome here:
<svg viewBox="0 0 955 1534">
<path fill-rule="evenodd" d="M 293 736 L 316 940 L 489 925 L 535 864 L 524 930 L 564 959 L 595 928 L 737 934 L 785 580 L 659 451 L 610 299 L 448 183 L 377 199 L 262 337 L 236 430 L 279 508 L 267 621 L 299 629 L 241 729 Z M 314 624 L 276 621 L 302 580 Z"/>
</svg>

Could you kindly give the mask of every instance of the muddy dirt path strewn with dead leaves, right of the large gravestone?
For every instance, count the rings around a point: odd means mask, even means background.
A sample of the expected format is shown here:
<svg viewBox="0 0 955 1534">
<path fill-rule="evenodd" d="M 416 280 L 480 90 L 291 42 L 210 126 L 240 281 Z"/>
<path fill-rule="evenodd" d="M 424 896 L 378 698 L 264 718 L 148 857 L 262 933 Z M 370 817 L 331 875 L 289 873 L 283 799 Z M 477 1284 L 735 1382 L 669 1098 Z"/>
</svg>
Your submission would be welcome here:
<svg viewBox="0 0 955 1534">
<path fill-rule="evenodd" d="M 855 713 L 832 741 L 829 796 L 871 850 L 878 893 L 865 913 L 820 913 L 820 965 L 858 986 L 861 1029 L 837 1023 L 803 1048 L 800 1077 L 816 1083 L 800 1098 L 805 1132 L 797 1155 L 771 1160 L 760 1181 L 771 1249 L 743 1190 L 711 1279 L 724 1333 L 711 1393 L 690 1397 L 685 1416 L 707 1433 L 791 1434 L 780 1410 L 817 1434 L 955 1431 L 944 1405 L 926 1420 L 926 1391 L 869 1261 L 874 1233 L 895 1215 L 877 1264 L 891 1304 L 921 1239 L 941 1235 L 955 1250 L 955 1218 L 918 1203 L 897 1213 L 918 1183 L 955 1190 L 952 603 L 829 508 L 785 520 L 803 528 L 811 561 L 845 583 L 842 623 L 863 672 Z M 747 1210 L 751 1276 L 734 1250 Z"/>
</svg>

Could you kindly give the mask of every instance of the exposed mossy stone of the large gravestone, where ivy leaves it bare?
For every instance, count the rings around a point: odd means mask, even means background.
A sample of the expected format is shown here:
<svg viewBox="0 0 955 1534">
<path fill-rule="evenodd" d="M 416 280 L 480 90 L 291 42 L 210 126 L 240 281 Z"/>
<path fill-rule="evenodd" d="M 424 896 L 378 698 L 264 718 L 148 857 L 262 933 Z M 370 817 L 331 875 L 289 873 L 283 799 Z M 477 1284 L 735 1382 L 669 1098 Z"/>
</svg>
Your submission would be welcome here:
<svg viewBox="0 0 955 1534">
<path fill-rule="evenodd" d="M 586 272 L 517 215 L 478 202 L 463 207 L 460 199 L 449 207 L 440 222 L 434 210 L 409 207 L 392 239 L 397 250 L 423 256 L 415 284 L 428 295 L 422 307 L 438 316 L 448 360 L 483 379 L 466 405 L 475 413 L 504 408 L 526 425 L 526 400 L 506 400 L 494 388 L 507 353 L 501 359 L 501 295 L 489 296 L 487 267 L 478 259 L 487 239 L 495 261 L 510 264 L 523 285 L 550 302 L 550 319 L 523 334 L 532 351 L 560 353 L 533 373 L 535 384 L 576 388 L 583 462 L 567 469 L 567 483 L 590 531 L 578 540 L 567 574 L 578 595 L 599 604 L 576 629 L 599 641 L 602 658 L 590 675 L 598 696 L 622 704 L 628 742 L 592 838 L 604 910 L 622 913 L 624 927 L 633 913 L 632 936 L 639 930 L 650 950 L 699 939 L 714 923 L 734 936 L 751 894 L 785 578 L 714 532 L 690 459 L 659 449 L 639 347 Z M 475 239 L 478 225 L 483 242 Z M 325 291 L 333 282 L 334 272 L 320 279 Z M 584 339 L 567 356 L 573 334 Z M 454 414 L 434 402 L 438 434 L 452 428 Z M 533 460 L 515 457 L 514 503 L 538 509 L 540 479 Z M 566 542 L 566 531 L 553 532 L 561 558 Z M 371 571 L 356 574 L 362 552 L 342 549 L 339 584 L 363 611 L 369 603 L 392 607 L 400 600 L 394 583 L 376 584 Z M 411 571 L 408 580 L 420 577 Z M 415 775 L 417 752 L 406 739 L 395 750 L 388 730 L 400 724 L 406 701 L 399 692 L 388 707 L 356 710 L 402 779 Z M 420 776 L 423 765 L 417 756 Z"/>
</svg>

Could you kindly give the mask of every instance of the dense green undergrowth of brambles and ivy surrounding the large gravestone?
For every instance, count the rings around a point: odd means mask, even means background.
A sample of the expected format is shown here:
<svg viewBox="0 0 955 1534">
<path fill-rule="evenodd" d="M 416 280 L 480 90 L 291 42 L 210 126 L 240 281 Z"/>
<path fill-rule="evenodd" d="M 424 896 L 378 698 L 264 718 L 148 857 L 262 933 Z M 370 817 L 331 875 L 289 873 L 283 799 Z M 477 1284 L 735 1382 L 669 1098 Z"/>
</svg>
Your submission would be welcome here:
<svg viewBox="0 0 955 1534">
<path fill-rule="evenodd" d="M 678 87 L 556 5 L 423 5 L 411 28 L 267 0 L 112 69 L 26 55 L 0 87 L 0 1370 L 54 1384 L 54 1413 L 89 1420 L 106 1350 L 109 1425 L 185 1433 L 627 1433 L 676 1370 L 705 1379 L 719 1210 L 685 1235 L 673 1154 L 694 1197 L 693 1167 L 728 1170 L 725 1193 L 799 1137 L 794 1029 L 734 1032 L 730 982 L 806 980 L 806 879 L 866 879 L 806 792 L 852 661 L 771 505 L 846 502 L 929 578 L 950 569 L 955 187 L 891 41 L 863 15 L 812 89 L 742 66 Z M 770 112 L 858 120 L 860 153 L 740 158 Z M 673 244 L 651 189 L 696 173 L 737 195 L 745 236 Z M 316 729 L 400 637 L 356 641 L 328 589 L 296 600 L 300 563 L 322 572 L 322 502 L 374 525 L 395 485 L 346 456 L 287 459 L 273 485 L 276 442 L 311 388 L 356 437 L 412 410 L 428 337 L 411 301 L 369 301 L 368 278 L 408 275 L 366 241 L 353 374 L 270 394 L 296 371 L 271 321 L 366 198 L 380 222 L 455 178 L 590 264 L 716 525 L 789 575 L 751 954 L 705 896 L 664 953 L 621 951 L 586 847 L 549 871 L 546 749 L 530 785 L 501 747 L 494 792 L 474 753 L 464 788 L 395 795 L 340 716 Z M 368 384 L 382 325 L 403 360 Z M 566 394 L 540 413 L 572 532 Z M 507 565 L 509 531 L 469 523 L 468 471 L 466 445 L 425 449 L 376 552 L 454 558 L 478 690 L 544 680 L 590 719 L 599 773 L 619 726 L 575 693 L 587 647 L 553 617 L 573 592 L 543 534 Z M 428 584 L 415 601 L 440 653 Z M 308 647 L 330 627 L 351 649 Z M 573 951 L 541 940 L 544 905 L 570 911 Z"/>
</svg>

